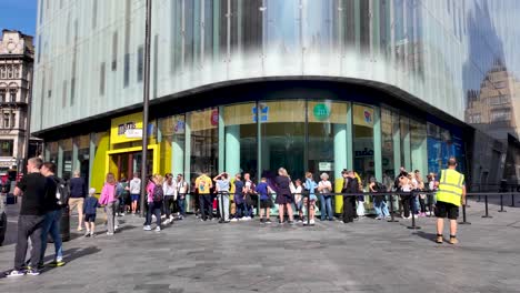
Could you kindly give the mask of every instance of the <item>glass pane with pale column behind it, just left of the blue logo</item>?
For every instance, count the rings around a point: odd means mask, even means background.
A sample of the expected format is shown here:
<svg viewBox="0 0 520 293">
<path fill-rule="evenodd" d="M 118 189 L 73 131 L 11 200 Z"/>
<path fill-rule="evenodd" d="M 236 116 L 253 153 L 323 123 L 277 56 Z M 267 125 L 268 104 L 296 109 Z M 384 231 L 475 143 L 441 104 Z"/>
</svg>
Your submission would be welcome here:
<svg viewBox="0 0 520 293">
<path fill-rule="evenodd" d="M 248 172 L 257 178 L 257 105 L 244 103 L 228 105 L 223 111 L 226 133 L 224 170 L 232 175 Z"/>
</svg>

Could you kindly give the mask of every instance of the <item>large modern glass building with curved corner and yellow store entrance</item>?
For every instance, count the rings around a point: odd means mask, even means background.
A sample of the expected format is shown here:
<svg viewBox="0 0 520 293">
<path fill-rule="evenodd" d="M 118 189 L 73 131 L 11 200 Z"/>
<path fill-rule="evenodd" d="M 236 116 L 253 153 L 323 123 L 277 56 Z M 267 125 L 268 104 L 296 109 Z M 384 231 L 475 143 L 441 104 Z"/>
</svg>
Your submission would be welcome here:
<svg viewBox="0 0 520 293">
<path fill-rule="evenodd" d="M 468 101 L 518 61 L 512 0 L 152 0 L 147 127 L 144 2 L 39 0 L 31 129 L 59 175 L 98 190 L 130 176 L 141 141 L 127 130 L 144 128 L 149 172 L 188 180 L 346 168 L 390 184 L 450 156 L 469 183 L 502 179 L 508 143 L 471 125 Z M 494 119 L 518 118 L 503 101 Z"/>
</svg>

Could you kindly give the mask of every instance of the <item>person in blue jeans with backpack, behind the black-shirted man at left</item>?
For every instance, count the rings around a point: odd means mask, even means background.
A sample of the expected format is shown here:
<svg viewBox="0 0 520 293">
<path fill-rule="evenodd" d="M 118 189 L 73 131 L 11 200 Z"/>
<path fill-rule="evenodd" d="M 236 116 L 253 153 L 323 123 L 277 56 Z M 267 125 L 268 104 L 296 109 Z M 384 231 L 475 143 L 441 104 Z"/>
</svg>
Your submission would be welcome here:
<svg viewBox="0 0 520 293">
<path fill-rule="evenodd" d="M 63 262 L 63 244 L 61 242 L 61 230 L 60 230 L 60 221 L 61 221 L 61 213 L 62 213 L 62 204 L 67 204 L 67 202 L 60 203 L 59 198 L 61 198 L 61 192 L 64 192 L 66 182 L 61 178 L 54 175 L 56 172 L 56 164 L 52 162 L 46 162 L 41 166 L 41 174 L 44 175 L 49 182 L 49 199 L 46 200 L 47 204 L 47 214 L 46 221 L 43 222 L 43 228 L 41 230 L 41 257 L 38 262 L 38 269 L 43 267 L 43 257 L 46 256 L 47 250 L 47 238 L 50 233 L 52 241 L 54 242 L 54 261 L 50 263 L 51 266 L 62 266 L 66 263 Z M 54 194 L 52 196 L 52 194 Z M 78 210 L 83 210 L 78 208 Z"/>
</svg>

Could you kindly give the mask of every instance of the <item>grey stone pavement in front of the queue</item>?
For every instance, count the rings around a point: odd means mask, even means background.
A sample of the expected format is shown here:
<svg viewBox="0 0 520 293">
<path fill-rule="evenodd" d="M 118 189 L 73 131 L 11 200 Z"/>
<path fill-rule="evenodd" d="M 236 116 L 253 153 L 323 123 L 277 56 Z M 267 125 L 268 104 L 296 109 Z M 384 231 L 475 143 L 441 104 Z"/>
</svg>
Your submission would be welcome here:
<svg viewBox="0 0 520 293">
<path fill-rule="evenodd" d="M 64 266 L 2 277 L 0 292 L 520 292 L 520 208 L 498 213 L 492 204 L 493 218 L 483 219 L 483 203 L 469 203 L 472 224 L 459 226 L 458 245 L 433 242 L 433 218 L 418 219 L 421 229 L 410 230 L 403 219 L 306 228 L 191 215 L 144 232 L 141 218 L 126 215 L 113 236 L 103 225 L 94 239 L 72 232 Z M 9 209 L 14 225 L 16 206 Z M 51 261 L 49 252 L 52 245 Z M 0 270 L 12 269 L 13 255 L 8 241 Z"/>
</svg>

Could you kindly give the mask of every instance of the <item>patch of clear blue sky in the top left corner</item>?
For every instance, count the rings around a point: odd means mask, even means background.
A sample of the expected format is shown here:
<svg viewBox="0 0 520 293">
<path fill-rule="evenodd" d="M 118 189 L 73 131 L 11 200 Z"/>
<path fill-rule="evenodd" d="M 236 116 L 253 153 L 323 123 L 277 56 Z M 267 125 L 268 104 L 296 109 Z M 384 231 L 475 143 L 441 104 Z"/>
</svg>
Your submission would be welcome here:
<svg viewBox="0 0 520 293">
<path fill-rule="evenodd" d="M 19 30 L 34 36 L 37 0 L 0 0 L 0 30 Z"/>
</svg>

